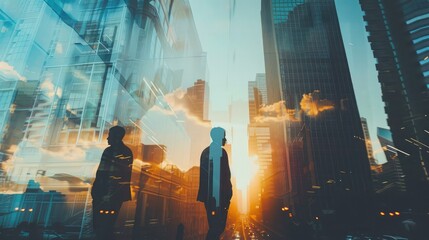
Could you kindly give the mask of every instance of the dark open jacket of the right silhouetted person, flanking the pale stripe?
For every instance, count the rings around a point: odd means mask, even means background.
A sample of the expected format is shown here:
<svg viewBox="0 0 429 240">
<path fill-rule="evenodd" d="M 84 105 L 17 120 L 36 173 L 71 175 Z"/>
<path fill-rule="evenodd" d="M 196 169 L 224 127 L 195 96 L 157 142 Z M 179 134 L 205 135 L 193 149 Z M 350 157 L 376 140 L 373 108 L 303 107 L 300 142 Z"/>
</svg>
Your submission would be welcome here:
<svg viewBox="0 0 429 240">
<path fill-rule="evenodd" d="M 203 150 L 200 157 L 200 186 L 197 201 L 215 206 L 212 197 L 213 189 L 213 166 L 209 166 L 210 147 Z M 220 165 L 220 206 L 228 207 L 232 198 L 231 170 L 228 163 L 228 154 L 222 148 Z"/>
</svg>

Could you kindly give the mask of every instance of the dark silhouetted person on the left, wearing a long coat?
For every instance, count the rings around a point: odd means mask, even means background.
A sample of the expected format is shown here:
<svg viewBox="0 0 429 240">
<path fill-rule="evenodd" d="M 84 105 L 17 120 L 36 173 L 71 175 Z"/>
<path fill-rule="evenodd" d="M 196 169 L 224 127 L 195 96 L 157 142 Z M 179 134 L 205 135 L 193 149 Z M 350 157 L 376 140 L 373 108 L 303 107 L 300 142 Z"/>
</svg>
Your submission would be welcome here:
<svg viewBox="0 0 429 240">
<path fill-rule="evenodd" d="M 119 209 L 131 200 L 130 181 L 133 154 L 122 139 L 125 129 L 110 128 L 106 148 L 101 156 L 92 187 L 93 227 L 98 240 L 114 239 L 114 226 Z"/>
</svg>

